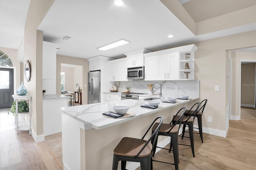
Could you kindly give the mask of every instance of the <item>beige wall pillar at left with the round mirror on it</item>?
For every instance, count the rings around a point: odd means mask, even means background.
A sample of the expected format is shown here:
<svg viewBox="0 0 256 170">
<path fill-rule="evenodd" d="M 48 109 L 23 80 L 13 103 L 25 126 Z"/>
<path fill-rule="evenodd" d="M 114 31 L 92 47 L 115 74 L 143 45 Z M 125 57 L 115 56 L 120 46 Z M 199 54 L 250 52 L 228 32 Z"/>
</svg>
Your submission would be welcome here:
<svg viewBox="0 0 256 170">
<path fill-rule="evenodd" d="M 32 96 L 32 136 L 35 140 L 38 140 L 44 133 L 42 116 L 43 32 L 38 31 L 37 28 L 53 2 L 54 0 L 31 0 L 24 29 L 24 61 L 27 59 L 30 61 L 32 72 L 31 81 L 25 82 L 24 85 L 28 89 L 28 95 Z"/>
</svg>

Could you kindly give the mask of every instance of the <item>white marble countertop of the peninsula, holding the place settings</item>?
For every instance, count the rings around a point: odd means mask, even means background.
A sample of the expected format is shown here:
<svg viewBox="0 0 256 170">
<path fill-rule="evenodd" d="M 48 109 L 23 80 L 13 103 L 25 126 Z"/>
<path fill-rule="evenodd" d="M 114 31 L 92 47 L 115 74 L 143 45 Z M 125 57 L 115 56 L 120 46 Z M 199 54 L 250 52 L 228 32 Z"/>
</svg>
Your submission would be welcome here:
<svg viewBox="0 0 256 170">
<path fill-rule="evenodd" d="M 178 99 L 177 103 L 161 102 L 157 109 L 142 108 L 139 106 L 139 100 L 134 100 L 134 99 L 111 102 L 111 103 L 115 103 L 115 106 L 128 106 L 130 107 L 129 112 L 136 113 L 136 115 L 133 117 L 121 118 L 121 119 L 107 118 L 102 115 L 102 113 L 108 111 L 108 103 L 106 102 L 94 103 L 89 105 L 78 105 L 78 106 L 72 106 L 72 107 L 62 107 L 58 110 L 78 120 L 80 123 L 80 128 L 84 130 L 87 130 L 90 128 L 103 129 L 103 128 L 111 127 L 120 123 L 124 123 L 126 121 L 137 119 L 138 117 L 143 117 L 152 113 L 156 113 L 163 109 L 175 107 L 183 103 L 188 103 L 196 99 L 198 98 L 190 99 L 190 100 Z M 160 101 L 160 100 L 156 99 L 155 101 Z M 145 101 L 145 104 L 148 104 L 147 101 Z"/>
</svg>

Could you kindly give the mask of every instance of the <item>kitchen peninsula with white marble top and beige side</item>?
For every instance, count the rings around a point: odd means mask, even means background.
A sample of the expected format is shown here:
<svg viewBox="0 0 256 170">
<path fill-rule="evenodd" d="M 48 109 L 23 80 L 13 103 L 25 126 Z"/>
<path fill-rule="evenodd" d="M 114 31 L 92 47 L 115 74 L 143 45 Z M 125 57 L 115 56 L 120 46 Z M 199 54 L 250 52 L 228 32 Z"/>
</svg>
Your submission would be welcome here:
<svg viewBox="0 0 256 170">
<path fill-rule="evenodd" d="M 128 112 L 136 113 L 123 119 L 102 115 L 108 110 L 108 103 L 60 108 L 64 169 L 112 169 L 113 150 L 123 137 L 141 138 L 156 117 L 162 116 L 164 123 L 169 123 L 181 107 L 190 107 L 197 99 L 178 99 L 175 104 L 161 102 L 157 109 L 142 108 L 134 99 L 113 101 L 116 106 L 128 106 Z M 159 146 L 169 142 L 166 136 L 158 138 Z M 137 165 L 129 162 L 127 168 L 135 169 Z"/>
</svg>

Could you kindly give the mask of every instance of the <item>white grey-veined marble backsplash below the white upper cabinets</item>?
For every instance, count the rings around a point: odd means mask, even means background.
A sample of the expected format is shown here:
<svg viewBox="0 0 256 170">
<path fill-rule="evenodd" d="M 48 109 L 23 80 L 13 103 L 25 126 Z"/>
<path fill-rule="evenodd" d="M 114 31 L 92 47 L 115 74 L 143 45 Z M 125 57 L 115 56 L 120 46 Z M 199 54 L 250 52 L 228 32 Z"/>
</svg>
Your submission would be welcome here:
<svg viewBox="0 0 256 170">
<path fill-rule="evenodd" d="M 180 95 L 189 95 L 189 98 L 199 97 L 199 80 L 182 80 L 182 81 L 158 81 L 162 84 L 162 95 L 166 97 L 180 97 Z M 118 92 L 125 92 L 126 87 L 130 87 L 132 93 L 148 93 L 148 85 L 154 81 L 133 80 L 115 82 Z M 125 86 L 125 88 L 124 88 Z M 175 89 L 175 86 L 178 89 Z M 160 86 L 155 84 L 152 93 L 159 93 Z M 155 90 L 155 91 L 154 91 Z"/>
</svg>

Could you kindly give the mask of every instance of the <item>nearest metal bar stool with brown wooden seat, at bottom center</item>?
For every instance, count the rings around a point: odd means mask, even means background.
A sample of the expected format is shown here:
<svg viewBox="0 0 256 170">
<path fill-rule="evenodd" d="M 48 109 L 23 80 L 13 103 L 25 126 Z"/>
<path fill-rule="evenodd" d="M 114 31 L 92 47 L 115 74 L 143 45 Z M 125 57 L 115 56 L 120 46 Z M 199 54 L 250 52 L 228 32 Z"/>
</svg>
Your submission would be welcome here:
<svg viewBox="0 0 256 170">
<path fill-rule="evenodd" d="M 144 140 L 144 137 L 158 119 L 159 124 L 155 132 L 148 140 Z M 162 123 L 163 117 L 157 117 L 141 139 L 129 137 L 122 138 L 114 149 L 112 170 L 117 170 L 119 160 L 121 160 L 121 170 L 125 170 L 126 161 L 140 162 L 142 170 L 152 170 L 153 146 L 156 142 L 156 138 Z M 150 141 L 153 141 L 153 145 Z"/>
</svg>

